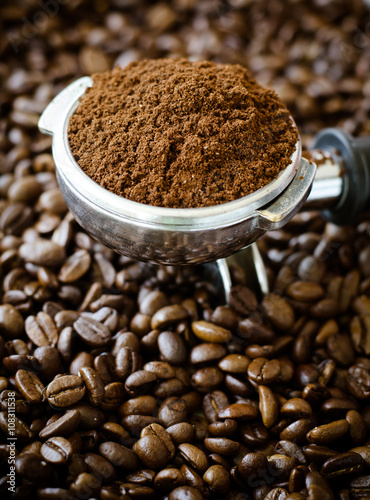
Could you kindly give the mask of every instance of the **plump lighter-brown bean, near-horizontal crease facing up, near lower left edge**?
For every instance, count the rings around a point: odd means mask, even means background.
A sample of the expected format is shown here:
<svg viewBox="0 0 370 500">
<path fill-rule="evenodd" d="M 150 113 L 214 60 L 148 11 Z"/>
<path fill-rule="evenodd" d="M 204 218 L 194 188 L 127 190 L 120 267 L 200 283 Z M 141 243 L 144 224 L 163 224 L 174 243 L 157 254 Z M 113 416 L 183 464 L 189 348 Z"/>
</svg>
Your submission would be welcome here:
<svg viewBox="0 0 370 500">
<path fill-rule="evenodd" d="M 52 406 L 64 408 L 77 403 L 85 395 L 85 386 L 81 377 L 62 375 L 51 382 L 45 390 L 45 396 Z"/>
</svg>

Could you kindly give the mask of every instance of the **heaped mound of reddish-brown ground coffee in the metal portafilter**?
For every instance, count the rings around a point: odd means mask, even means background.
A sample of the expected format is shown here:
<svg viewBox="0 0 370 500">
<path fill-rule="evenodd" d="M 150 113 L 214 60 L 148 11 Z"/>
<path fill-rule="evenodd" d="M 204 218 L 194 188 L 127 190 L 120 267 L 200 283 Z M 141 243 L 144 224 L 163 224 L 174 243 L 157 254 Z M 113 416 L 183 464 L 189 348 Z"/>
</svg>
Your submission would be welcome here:
<svg viewBox="0 0 370 500">
<path fill-rule="evenodd" d="M 93 75 L 71 117 L 74 158 L 124 198 L 171 208 L 246 196 L 287 167 L 298 139 L 272 90 L 240 65 L 144 60 Z"/>
</svg>

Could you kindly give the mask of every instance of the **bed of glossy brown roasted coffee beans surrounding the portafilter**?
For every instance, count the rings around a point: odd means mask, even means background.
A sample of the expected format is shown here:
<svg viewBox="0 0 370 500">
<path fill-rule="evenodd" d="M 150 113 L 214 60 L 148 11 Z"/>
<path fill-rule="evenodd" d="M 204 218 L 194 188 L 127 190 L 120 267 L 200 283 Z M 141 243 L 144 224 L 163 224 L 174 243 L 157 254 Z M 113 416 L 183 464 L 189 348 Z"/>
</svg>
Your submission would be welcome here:
<svg viewBox="0 0 370 500">
<path fill-rule="evenodd" d="M 306 147 L 370 134 L 365 3 L 3 0 L 0 23 L 2 498 L 368 498 L 370 214 L 299 214 L 259 241 L 271 293 L 234 268 L 220 304 L 84 233 L 37 130 L 79 76 L 177 55 L 248 67 Z"/>
</svg>

